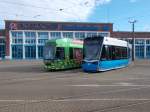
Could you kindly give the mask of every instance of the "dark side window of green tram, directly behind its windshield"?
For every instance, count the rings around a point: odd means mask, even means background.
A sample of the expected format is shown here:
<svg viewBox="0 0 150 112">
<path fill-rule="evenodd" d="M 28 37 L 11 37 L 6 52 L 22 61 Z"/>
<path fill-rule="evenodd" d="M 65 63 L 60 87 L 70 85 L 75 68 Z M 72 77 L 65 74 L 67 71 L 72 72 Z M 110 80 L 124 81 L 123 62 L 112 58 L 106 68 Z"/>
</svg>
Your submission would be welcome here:
<svg viewBox="0 0 150 112">
<path fill-rule="evenodd" d="M 56 49 L 56 58 L 65 59 L 65 50 L 62 47 L 57 47 Z"/>
</svg>

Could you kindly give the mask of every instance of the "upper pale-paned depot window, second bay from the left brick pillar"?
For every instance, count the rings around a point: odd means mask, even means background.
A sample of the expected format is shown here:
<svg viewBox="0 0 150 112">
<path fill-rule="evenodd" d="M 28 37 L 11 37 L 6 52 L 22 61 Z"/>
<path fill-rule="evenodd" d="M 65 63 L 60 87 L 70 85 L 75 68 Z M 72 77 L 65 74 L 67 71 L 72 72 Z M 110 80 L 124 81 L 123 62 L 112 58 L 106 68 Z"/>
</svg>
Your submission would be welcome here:
<svg viewBox="0 0 150 112">
<path fill-rule="evenodd" d="M 25 32 L 25 43 L 26 44 L 36 44 L 36 33 L 35 32 Z"/>
</svg>

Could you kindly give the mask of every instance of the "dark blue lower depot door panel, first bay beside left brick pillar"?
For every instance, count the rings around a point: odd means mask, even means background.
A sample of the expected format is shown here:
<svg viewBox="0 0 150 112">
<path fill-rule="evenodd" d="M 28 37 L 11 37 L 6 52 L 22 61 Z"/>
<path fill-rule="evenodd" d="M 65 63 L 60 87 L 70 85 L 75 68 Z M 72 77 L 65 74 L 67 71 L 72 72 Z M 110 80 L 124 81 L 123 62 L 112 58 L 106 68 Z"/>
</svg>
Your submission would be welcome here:
<svg viewBox="0 0 150 112">
<path fill-rule="evenodd" d="M 12 58 L 13 59 L 23 58 L 23 46 L 22 45 L 12 45 Z"/>
</svg>

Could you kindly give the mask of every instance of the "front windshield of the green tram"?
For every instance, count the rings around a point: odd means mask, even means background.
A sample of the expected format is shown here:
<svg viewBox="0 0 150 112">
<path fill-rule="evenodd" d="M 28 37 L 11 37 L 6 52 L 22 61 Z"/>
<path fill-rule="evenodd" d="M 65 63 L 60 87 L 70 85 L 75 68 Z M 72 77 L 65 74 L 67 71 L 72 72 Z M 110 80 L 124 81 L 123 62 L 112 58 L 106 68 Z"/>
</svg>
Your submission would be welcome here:
<svg viewBox="0 0 150 112">
<path fill-rule="evenodd" d="M 55 46 L 48 45 L 44 48 L 44 59 L 55 59 Z"/>
</svg>

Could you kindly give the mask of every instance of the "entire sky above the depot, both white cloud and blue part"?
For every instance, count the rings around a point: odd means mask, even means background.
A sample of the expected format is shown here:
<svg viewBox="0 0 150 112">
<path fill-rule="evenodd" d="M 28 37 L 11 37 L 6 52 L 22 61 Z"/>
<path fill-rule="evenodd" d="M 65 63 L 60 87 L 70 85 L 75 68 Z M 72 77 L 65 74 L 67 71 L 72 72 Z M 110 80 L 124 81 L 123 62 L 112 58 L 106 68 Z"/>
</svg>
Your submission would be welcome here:
<svg viewBox="0 0 150 112">
<path fill-rule="evenodd" d="M 116 31 L 150 31 L 150 0 L 0 0 L 0 28 L 4 19 L 110 22 Z"/>
</svg>

